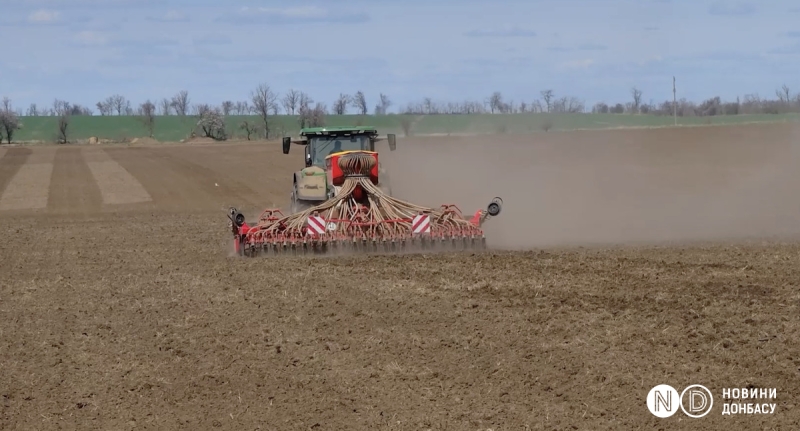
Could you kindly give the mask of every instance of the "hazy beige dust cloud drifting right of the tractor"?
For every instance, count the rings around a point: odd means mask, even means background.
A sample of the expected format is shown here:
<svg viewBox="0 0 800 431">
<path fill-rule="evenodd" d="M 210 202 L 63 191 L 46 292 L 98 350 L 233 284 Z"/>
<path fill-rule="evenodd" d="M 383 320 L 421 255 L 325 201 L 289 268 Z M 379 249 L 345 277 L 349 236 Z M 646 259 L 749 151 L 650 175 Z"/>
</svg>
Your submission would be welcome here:
<svg viewBox="0 0 800 431">
<path fill-rule="evenodd" d="M 393 193 L 465 216 L 496 249 L 800 235 L 795 125 L 398 139 Z"/>
</svg>

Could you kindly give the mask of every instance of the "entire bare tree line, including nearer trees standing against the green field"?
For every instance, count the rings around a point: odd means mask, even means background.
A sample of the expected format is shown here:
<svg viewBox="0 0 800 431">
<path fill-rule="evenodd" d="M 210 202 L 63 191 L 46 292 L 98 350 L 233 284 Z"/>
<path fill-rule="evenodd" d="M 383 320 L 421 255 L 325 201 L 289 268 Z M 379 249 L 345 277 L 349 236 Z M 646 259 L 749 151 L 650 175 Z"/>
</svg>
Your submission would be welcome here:
<svg viewBox="0 0 800 431">
<path fill-rule="evenodd" d="M 602 114 L 637 114 L 637 115 L 675 115 L 717 116 L 741 114 L 781 114 L 800 112 L 800 93 L 793 93 L 787 85 L 776 89 L 777 98 L 764 98 L 758 94 L 747 94 L 735 101 L 724 101 L 720 97 L 712 97 L 701 102 L 685 98 L 654 102 L 645 102 L 643 92 L 632 88 L 625 102 L 596 103 L 587 108 L 586 103 L 574 96 L 560 96 L 553 90 L 540 92 L 534 100 L 509 99 L 501 92 L 493 92 L 483 100 L 466 100 L 462 102 L 441 102 L 425 97 L 418 102 L 408 103 L 400 107 L 397 114 L 405 115 L 471 115 L 471 114 L 524 114 L 524 113 L 602 113 Z M 114 94 L 98 101 L 93 108 L 66 100 L 55 99 L 49 106 L 32 103 L 23 111 L 12 106 L 5 97 L 0 107 L 0 142 L 3 138 L 11 142 L 14 132 L 19 129 L 19 117 L 23 116 L 56 116 L 59 117 L 59 140 L 67 141 L 69 118 L 81 115 L 100 116 L 135 116 L 142 121 L 152 136 L 158 116 L 176 115 L 194 117 L 199 133 L 214 139 L 226 139 L 224 118 L 231 115 L 255 116 L 255 121 L 245 120 L 239 128 L 247 139 L 261 136 L 269 139 L 274 136 L 271 130 L 271 118 L 277 115 L 297 116 L 300 127 L 322 126 L 326 115 L 367 115 L 370 113 L 367 96 L 363 91 L 354 94 L 340 93 L 330 105 L 315 101 L 308 93 L 290 89 L 279 94 L 269 85 L 261 84 L 253 89 L 245 100 L 225 100 L 218 105 L 195 102 L 189 92 L 182 90 L 172 97 L 146 100 L 134 105 L 131 100 L 120 94 Z M 374 115 L 392 115 L 390 107 L 393 103 L 389 96 L 380 93 L 372 107 Z"/>
</svg>

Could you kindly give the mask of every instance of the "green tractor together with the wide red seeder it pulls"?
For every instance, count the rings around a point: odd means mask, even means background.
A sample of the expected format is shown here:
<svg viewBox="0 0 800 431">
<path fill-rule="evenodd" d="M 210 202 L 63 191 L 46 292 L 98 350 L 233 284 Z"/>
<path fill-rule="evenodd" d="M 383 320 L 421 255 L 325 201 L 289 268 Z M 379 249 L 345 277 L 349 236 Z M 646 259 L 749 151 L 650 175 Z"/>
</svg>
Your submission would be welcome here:
<svg viewBox="0 0 800 431">
<path fill-rule="evenodd" d="M 486 248 L 484 223 L 500 214 L 495 197 L 471 217 L 455 204 L 420 206 L 392 196 L 387 175 L 375 151 L 379 140 L 372 127 L 306 128 L 301 139 L 306 167 L 294 174 L 291 213 L 265 209 L 251 223 L 229 208 L 228 228 L 240 256 L 262 254 L 393 253 L 416 250 L 480 250 Z M 387 135 L 389 149 L 395 135 Z"/>
</svg>

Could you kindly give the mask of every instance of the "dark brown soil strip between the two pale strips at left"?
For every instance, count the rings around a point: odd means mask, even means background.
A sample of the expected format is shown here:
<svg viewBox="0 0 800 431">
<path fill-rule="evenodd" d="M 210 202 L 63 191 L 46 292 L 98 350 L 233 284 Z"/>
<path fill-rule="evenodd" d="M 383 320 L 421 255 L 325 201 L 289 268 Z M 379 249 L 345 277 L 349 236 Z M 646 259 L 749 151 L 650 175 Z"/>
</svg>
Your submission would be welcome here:
<svg viewBox="0 0 800 431">
<path fill-rule="evenodd" d="M 59 148 L 50 181 L 48 210 L 92 215 L 102 210 L 103 197 L 81 148 Z"/>
</svg>

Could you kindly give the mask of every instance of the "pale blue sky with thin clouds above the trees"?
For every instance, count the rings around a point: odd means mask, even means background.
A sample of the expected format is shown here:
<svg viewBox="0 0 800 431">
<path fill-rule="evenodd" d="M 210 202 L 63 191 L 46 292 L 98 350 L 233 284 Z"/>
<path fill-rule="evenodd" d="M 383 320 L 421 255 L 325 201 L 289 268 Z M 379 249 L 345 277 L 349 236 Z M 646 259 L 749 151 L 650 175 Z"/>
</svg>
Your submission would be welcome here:
<svg viewBox="0 0 800 431">
<path fill-rule="evenodd" d="M 259 83 L 332 104 L 431 97 L 597 101 L 800 91 L 797 0 L 0 0 L 0 96 L 26 107 L 135 104 L 188 90 L 245 100 Z M 291 6 L 288 6 L 291 4 Z M 9 52 L 10 50 L 10 52 Z M 393 110 L 392 109 L 392 110 Z"/>
</svg>

